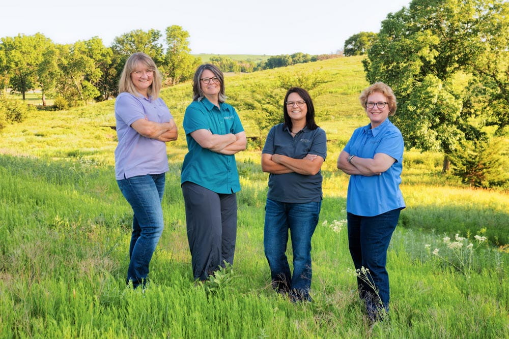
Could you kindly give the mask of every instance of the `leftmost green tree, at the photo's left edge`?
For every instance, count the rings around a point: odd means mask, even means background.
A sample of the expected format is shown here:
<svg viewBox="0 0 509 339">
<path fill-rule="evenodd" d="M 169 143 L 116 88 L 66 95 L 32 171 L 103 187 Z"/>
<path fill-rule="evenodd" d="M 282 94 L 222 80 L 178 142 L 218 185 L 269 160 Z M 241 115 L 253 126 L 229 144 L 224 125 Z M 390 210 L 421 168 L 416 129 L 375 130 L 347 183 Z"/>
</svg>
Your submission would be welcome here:
<svg viewBox="0 0 509 339">
<path fill-rule="evenodd" d="M 23 100 L 26 91 L 37 85 L 37 69 L 49 44 L 51 40 L 40 33 L 2 38 L 1 49 L 5 58 L 4 68 L 9 74 L 9 86 L 21 93 Z"/>
</svg>

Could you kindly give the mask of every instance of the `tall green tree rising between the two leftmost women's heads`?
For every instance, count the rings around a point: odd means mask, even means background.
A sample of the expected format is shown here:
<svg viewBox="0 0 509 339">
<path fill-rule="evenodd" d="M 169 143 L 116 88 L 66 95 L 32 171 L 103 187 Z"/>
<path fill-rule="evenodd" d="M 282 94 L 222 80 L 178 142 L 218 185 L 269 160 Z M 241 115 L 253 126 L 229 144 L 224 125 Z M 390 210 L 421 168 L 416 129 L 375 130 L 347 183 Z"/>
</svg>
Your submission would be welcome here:
<svg viewBox="0 0 509 339">
<path fill-rule="evenodd" d="M 190 54 L 189 33 L 181 26 L 166 27 L 166 55 L 164 73 L 172 84 L 191 79 L 201 59 Z"/>
</svg>

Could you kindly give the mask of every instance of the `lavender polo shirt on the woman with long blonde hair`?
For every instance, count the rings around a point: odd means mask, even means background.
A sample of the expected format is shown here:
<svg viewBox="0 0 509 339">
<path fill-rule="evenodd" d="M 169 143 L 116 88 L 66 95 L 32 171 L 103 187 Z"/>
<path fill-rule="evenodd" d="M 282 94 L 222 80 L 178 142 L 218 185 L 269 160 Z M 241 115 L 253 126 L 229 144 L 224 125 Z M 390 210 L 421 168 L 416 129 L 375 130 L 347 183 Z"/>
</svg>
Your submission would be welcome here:
<svg viewBox="0 0 509 339">
<path fill-rule="evenodd" d="M 168 122 L 173 116 L 161 98 L 149 100 L 130 93 L 119 94 L 115 101 L 115 119 L 119 144 L 115 149 L 117 180 L 137 175 L 160 174 L 168 171 L 166 143 L 136 132 L 131 124 L 139 119 Z"/>
</svg>

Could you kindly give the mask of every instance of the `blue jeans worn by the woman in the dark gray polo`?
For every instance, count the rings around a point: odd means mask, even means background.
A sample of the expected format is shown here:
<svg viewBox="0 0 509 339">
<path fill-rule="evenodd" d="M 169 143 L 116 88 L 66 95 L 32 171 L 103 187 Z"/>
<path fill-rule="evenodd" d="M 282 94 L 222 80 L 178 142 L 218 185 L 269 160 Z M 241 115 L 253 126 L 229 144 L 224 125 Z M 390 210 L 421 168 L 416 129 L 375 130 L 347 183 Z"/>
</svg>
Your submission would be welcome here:
<svg viewBox="0 0 509 339">
<path fill-rule="evenodd" d="M 292 300 L 311 300 L 311 237 L 322 202 L 285 203 L 267 199 L 263 246 L 272 287 L 290 292 Z M 293 276 L 285 254 L 288 231 L 292 239 Z"/>
</svg>

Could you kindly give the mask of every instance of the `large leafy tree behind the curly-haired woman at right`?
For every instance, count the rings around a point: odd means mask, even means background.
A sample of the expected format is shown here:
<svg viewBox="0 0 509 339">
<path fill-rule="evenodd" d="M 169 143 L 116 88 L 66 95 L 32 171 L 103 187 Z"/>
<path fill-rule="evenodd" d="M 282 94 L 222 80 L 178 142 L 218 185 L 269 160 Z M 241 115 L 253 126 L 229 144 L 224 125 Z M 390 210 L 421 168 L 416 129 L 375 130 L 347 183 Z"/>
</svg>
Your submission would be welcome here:
<svg viewBox="0 0 509 339">
<path fill-rule="evenodd" d="M 393 120 L 406 147 L 442 151 L 443 172 L 461 141 L 483 135 L 469 120 L 482 112 L 473 109 L 457 78 L 487 52 L 487 34 L 507 32 L 497 24 L 506 8 L 502 0 L 413 0 L 387 16 L 363 60 L 370 83 L 383 81 L 394 90 Z"/>
</svg>

